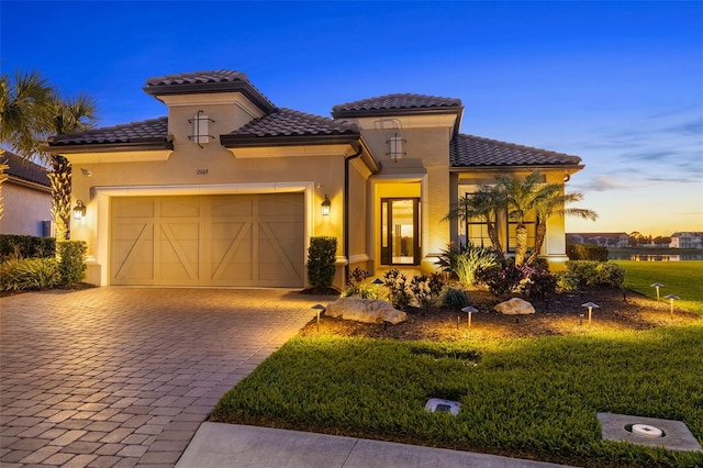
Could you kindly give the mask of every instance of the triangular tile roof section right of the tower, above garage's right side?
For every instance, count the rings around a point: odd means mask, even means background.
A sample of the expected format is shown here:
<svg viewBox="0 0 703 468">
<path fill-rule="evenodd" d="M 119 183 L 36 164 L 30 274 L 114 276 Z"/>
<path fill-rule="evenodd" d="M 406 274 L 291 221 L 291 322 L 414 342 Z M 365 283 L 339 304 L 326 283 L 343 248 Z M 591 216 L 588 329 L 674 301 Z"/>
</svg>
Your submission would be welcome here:
<svg viewBox="0 0 703 468">
<path fill-rule="evenodd" d="M 277 136 L 358 136 L 359 134 L 359 127 L 355 123 L 281 108 L 260 119 L 253 120 L 226 136 L 234 140 L 238 137 L 266 138 Z"/>
</svg>

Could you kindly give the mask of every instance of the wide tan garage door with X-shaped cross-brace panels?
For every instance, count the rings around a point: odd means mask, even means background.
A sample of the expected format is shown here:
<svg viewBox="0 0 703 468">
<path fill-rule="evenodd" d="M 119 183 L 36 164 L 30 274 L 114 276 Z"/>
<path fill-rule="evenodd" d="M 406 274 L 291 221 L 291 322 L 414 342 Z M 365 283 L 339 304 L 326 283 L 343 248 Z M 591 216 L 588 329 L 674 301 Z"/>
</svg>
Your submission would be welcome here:
<svg viewBox="0 0 703 468">
<path fill-rule="evenodd" d="M 303 286 L 303 194 L 111 201 L 112 285 Z"/>
</svg>

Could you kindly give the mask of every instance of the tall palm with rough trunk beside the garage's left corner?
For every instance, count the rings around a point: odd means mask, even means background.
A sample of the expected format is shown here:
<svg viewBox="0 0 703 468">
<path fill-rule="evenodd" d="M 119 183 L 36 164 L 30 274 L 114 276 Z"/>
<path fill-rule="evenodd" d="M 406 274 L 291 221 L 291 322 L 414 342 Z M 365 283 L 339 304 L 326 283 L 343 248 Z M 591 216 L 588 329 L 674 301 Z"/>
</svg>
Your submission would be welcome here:
<svg viewBox="0 0 703 468">
<path fill-rule="evenodd" d="M 77 98 L 62 99 L 55 93 L 53 101 L 54 112 L 44 142 L 52 135 L 82 132 L 94 126 L 97 105 L 92 98 L 81 93 Z M 68 238 L 70 225 L 70 161 L 62 155 L 45 152 L 41 155 L 52 167 L 48 178 L 52 182 L 52 214 L 56 223 L 56 241 L 65 241 Z"/>
</svg>

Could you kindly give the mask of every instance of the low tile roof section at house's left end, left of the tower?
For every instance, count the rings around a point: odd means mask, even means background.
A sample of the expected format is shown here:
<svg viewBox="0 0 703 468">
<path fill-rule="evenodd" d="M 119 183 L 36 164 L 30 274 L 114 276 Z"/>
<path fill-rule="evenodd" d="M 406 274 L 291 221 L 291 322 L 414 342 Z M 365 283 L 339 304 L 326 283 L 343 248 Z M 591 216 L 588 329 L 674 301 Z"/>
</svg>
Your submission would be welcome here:
<svg viewBox="0 0 703 468">
<path fill-rule="evenodd" d="M 49 138 L 49 146 L 140 143 L 167 141 L 168 118 L 149 119 L 86 132 L 68 133 Z"/>
</svg>

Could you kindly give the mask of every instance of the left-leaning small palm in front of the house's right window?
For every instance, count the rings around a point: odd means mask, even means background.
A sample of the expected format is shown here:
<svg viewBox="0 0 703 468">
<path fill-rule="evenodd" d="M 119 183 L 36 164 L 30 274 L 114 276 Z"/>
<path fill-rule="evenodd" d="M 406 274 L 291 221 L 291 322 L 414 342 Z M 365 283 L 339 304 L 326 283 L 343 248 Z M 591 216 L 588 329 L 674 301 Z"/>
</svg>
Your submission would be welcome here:
<svg viewBox="0 0 703 468">
<path fill-rule="evenodd" d="M 467 194 L 459 200 L 457 208 L 454 208 L 444 218 L 445 220 L 469 220 L 480 219 L 486 223 L 488 236 L 498 255 L 503 255 L 503 246 L 498 235 L 498 215 L 504 209 L 503 193 L 495 186 L 481 186 L 471 194 Z"/>
</svg>

